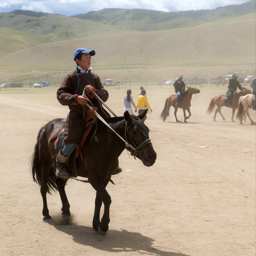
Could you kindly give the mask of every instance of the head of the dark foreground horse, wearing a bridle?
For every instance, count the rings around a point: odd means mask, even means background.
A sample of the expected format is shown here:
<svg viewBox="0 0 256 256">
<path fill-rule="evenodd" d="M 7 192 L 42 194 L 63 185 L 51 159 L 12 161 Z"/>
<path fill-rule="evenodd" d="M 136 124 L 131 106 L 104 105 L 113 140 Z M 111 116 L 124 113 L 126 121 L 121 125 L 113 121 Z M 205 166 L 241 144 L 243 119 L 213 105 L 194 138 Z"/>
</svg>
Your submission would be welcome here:
<svg viewBox="0 0 256 256">
<path fill-rule="evenodd" d="M 131 146 L 136 148 L 136 151 L 131 148 L 127 148 L 131 155 L 138 157 L 144 165 L 152 166 L 157 159 L 157 153 L 150 142 L 148 133 L 149 129 L 142 122 L 142 119 L 146 116 L 147 110 L 138 116 L 130 116 L 128 111 L 124 112 L 124 119 L 127 124 L 125 131 L 126 139 Z"/>
</svg>

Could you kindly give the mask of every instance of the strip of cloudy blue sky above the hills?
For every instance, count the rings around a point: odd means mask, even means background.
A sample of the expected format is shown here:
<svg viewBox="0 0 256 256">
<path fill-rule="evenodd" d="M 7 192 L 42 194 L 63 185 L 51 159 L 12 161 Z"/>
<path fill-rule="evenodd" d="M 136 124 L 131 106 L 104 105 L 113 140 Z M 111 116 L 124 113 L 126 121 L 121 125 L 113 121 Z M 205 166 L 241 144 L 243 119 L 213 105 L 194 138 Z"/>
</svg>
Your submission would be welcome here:
<svg viewBox="0 0 256 256">
<path fill-rule="evenodd" d="M 30 10 L 71 16 L 104 8 L 147 9 L 156 11 L 187 11 L 214 9 L 248 0 L 0 0 L 0 12 Z"/>
</svg>

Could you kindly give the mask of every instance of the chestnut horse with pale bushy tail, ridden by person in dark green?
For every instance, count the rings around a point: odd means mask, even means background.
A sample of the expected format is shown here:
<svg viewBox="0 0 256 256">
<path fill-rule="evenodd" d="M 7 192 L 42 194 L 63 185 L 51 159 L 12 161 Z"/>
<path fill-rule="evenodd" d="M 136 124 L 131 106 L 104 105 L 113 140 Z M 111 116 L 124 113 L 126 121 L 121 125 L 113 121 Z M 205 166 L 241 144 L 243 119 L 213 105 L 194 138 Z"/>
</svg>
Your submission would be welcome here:
<svg viewBox="0 0 256 256">
<path fill-rule="evenodd" d="M 232 99 L 232 102 L 231 102 L 232 106 L 229 107 L 229 108 L 232 108 L 232 117 L 231 117 L 232 122 L 235 121 L 233 117 L 234 117 L 236 109 L 238 108 L 239 98 L 241 96 L 244 96 L 244 95 L 250 94 L 250 93 L 252 93 L 252 91 L 244 87 L 244 90 L 241 90 L 240 92 L 238 92 L 234 96 L 234 98 Z M 215 109 L 215 105 L 216 105 L 217 109 L 215 110 L 213 121 L 216 121 L 216 114 L 217 114 L 217 112 L 220 113 L 220 115 L 222 117 L 222 120 L 226 121 L 225 117 L 221 113 L 221 107 L 224 106 L 225 98 L 226 98 L 225 94 L 221 94 L 219 96 L 214 96 L 214 97 L 211 98 L 210 105 L 208 106 L 208 109 L 206 110 L 206 114 L 207 115 L 211 114 L 213 112 L 213 110 Z"/>
</svg>

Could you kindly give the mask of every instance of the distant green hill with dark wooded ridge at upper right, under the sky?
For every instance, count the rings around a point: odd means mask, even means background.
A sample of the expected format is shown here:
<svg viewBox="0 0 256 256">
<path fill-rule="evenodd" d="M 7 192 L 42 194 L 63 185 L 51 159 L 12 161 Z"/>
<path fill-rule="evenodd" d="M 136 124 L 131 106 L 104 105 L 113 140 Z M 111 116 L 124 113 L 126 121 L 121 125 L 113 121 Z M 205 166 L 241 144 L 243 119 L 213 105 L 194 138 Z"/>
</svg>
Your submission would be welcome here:
<svg viewBox="0 0 256 256">
<path fill-rule="evenodd" d="M 162 12 L 142 9 L 106 8 L 87 14 L 74 15 L 79 19 L 117 26 L 122 29 L 157 31 L 193 27 L 203 23 L 250 14 L 256 11 L 256 1 L 240 5 L 227 5 L 214 10 Z"/>
</svg>

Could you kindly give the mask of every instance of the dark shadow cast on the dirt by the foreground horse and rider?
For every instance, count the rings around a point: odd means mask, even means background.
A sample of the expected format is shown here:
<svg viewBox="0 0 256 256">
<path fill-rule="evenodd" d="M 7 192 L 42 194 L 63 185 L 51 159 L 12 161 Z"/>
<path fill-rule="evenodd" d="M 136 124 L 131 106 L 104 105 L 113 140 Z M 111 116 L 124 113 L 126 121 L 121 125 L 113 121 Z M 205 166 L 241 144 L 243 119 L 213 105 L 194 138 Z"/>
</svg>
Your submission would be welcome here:
<svg viewBox="0 0 256 256">
<path fill-rule="evenodd" d="M 95 249 L 106 252 L 137 252 L 139 254 L 149 254 L 158 256 L 189 256 L 183 254 L 178 250 L 172 248 L 153 247 L 153 238 L 143 236 L 137 232 L 130 232 L 127 230 L 109 230 L 108 235 L 103 237 L 95 233 L 92 227 L 81 225 L 60 225 L 56 223 L 49 223 L 57 230 L 72 236 L 74 242 L 90 246 Z M 167 249 L 168 251 L 164 251 Z M 172 252 L 171 252 L 172 251 Z M 174 252 L 173 252 L 174 251 Z"/>
</svg>

